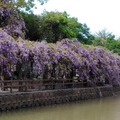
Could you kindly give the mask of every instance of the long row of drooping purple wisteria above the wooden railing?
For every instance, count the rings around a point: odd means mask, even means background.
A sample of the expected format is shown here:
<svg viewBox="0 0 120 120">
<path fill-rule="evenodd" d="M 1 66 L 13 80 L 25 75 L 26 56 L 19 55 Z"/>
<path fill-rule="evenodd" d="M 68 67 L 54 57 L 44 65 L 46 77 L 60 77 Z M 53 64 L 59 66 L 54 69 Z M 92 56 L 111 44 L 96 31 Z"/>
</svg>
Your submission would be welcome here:
<svg viewBox="0 0 120 120">
<path fill-rule="evenodd" d="M 0 74 L 4 79 L 67 79 L 120 84 L 120 57 L 101 48 L 84 48 L 77 40 L 56 44 L 15 41 L 0 32 Z"/>
</svg>

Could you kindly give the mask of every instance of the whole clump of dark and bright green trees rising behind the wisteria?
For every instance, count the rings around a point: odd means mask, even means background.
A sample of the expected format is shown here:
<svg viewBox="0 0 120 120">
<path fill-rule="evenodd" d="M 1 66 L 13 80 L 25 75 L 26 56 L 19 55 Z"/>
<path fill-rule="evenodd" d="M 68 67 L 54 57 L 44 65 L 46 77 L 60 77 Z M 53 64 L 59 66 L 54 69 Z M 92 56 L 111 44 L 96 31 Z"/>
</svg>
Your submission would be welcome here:
<svg viewBox="0 0 120 120">
<path fill-rule="evenodd" d="M 27 13 L 22 16 L 28 29 L 26 37 L 30 40 L 44 39 L 55 43 L 64 38 L 78 38 L 83 43 L 90 43 L 92 39 L 87 25 L 79 23 L 76 18 L 70 17 L 66 12 L 45 11 L 41 16 Z"/>
</svg>

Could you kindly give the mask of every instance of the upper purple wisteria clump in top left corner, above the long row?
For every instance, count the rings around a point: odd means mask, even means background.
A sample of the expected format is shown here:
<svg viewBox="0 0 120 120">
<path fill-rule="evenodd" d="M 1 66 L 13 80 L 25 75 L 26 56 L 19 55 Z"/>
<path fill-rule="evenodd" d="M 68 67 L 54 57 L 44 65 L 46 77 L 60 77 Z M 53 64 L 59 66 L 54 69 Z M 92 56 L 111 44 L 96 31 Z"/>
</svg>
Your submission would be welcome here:
<svg viewBox="0 0 120 120">
<path fill-rule="evenodd" d="M 25 37 L 25 23 L 10 0 L 0 1 L 0 27 L 13 37 Z"/>
</svg>

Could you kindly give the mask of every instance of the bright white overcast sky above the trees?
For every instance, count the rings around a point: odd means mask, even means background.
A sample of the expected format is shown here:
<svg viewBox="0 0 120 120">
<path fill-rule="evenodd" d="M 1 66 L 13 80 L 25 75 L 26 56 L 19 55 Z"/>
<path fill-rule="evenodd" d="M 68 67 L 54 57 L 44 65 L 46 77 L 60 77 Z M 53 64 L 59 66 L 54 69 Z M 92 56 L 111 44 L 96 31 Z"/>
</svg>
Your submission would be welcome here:
<svg viewBox="0 0 120 120">
<path fill-rule="evenodd" d="M 92 34 L 106 29 L 116 37 L 120 36 L 120 0 L 48 0 L 36 7 L 35 14 L 44 10 L 66 11 L 80 23 L 86 23 Z"/>
</svg>

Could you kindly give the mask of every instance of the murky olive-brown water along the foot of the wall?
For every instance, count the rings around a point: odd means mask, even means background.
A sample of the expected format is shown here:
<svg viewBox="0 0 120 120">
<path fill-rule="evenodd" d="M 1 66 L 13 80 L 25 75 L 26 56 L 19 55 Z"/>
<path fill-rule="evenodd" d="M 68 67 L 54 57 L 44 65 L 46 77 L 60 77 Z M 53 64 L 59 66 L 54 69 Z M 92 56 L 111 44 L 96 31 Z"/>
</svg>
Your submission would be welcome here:
<svg viewBox="0 0 120 120">
<path fill-rule="evenodd" d="M 0 120 L 120 120 L 120 97 L 3 112 Z"/>
</svg>

